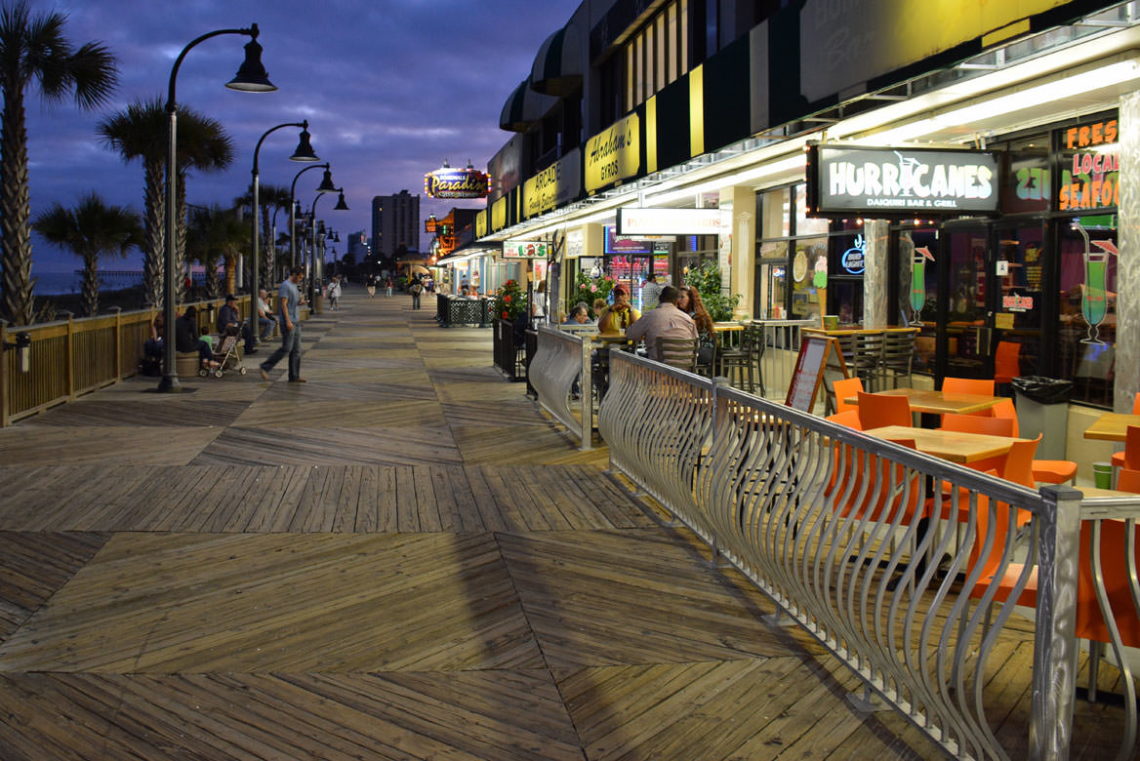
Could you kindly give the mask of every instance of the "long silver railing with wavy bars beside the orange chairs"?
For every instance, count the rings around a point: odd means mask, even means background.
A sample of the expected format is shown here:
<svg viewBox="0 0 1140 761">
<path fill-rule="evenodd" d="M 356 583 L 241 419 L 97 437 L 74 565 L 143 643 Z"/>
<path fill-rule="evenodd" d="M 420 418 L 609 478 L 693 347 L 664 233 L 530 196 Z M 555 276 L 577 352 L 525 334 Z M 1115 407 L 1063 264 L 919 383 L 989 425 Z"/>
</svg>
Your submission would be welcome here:
<svg viewBox="0 0 1140 761">
<path fill-rule="evenodd" d="M 865 699 L 956 758 L 1067 758 L 1080 492 L 1037 493 L 624 352 L 598 429 L 611 466 L 857 673 Z M 1001 603 L 1031 583 L 1035 620 L 1008 625 Z M 1032 706 L 1007 747 L 987 685 L 1017 637 Z"/>
</svg>

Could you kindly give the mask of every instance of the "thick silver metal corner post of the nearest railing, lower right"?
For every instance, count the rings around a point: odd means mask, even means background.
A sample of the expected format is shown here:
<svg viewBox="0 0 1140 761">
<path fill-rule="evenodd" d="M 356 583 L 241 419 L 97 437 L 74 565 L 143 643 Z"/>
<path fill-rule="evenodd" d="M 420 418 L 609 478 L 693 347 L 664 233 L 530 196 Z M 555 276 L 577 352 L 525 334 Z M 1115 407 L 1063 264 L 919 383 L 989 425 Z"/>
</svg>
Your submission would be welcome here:
<svg viewBox="0 0 1140 761">
<path fill-rule="evenodd" d="M 1037 622 L 1033 645 L 1029 761 L 1066 761 L 1073 738 L 1076 689 L 1076 576 L 1081 537 L 1081 492 L 1044 486 L 1053 507 L 1040 521 Z"/>
</svg>

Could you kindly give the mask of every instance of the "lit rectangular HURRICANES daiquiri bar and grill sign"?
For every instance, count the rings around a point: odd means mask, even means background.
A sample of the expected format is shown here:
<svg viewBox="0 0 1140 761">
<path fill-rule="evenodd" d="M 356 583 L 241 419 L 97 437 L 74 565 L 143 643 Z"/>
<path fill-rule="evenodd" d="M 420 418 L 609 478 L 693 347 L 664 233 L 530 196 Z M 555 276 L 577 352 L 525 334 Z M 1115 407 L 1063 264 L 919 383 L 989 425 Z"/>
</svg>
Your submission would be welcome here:
<svg viewBox="0 0 1140 761">
<path fill-rule="evenodd" d="M 984 150 L 811 146 L 811 213 L 938 216 L 997 212 L 997 157 Z"/>
</svg>

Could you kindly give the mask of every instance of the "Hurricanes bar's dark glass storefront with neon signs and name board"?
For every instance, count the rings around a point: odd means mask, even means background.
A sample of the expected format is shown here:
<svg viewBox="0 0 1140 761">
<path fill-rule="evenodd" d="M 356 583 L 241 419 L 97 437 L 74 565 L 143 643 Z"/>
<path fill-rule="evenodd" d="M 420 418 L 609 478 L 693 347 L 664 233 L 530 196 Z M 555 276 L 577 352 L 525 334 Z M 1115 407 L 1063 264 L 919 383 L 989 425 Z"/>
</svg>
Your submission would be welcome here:
<svg viewBox="0 0 1140 761">
<path fill-rule="evenodd" d="M 865 227 L 888 218 L 886 321 L 920 327 L 915 371 L 1048 375 L 1073 380 L 1074 401 L 1110 407 L 1121 130 L 1113 111 L 985 150 L 836 148 L 842 166 L 809 162 L 809 182 L 757 194 L 754 316 L 862 324 Z"/>
</svg>

